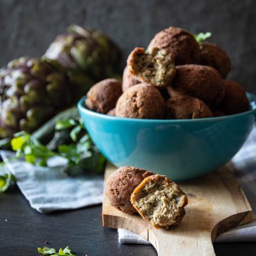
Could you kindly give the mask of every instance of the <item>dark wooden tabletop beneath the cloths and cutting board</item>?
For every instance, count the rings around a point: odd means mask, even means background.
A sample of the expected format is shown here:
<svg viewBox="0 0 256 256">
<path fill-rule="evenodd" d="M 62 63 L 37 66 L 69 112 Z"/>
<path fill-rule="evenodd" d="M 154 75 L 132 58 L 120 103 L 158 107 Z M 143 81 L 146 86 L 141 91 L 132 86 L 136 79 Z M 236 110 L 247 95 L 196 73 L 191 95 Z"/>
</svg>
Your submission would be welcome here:
<svg viewBox="0 0 256 256">
<path fill-rule="evenodd" d="M 37 247 L 69 246 L 77 256 L 157 255 L 153 246 L 118 243 L 115 229 L 103 228 L 101 205 L 40 214 L 17 187 L 0 195 L 0 255 L 35 256 Z M 256 243 L 215 244 L 216 255 L 256 255 Z M 183 256 L 183 255 L 182 255 Z"/>
</svg>

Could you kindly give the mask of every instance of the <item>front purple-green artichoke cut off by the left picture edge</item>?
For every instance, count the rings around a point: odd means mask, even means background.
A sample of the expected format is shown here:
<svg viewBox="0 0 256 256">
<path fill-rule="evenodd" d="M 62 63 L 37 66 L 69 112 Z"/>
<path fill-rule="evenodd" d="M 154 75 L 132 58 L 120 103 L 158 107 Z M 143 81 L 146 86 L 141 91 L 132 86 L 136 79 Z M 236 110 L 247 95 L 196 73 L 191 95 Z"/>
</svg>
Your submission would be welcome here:
<svg viewBox="0 0 256 256">
<path fill-rule="evenodd" d="M 0 70 L 0 138 L 32 132 L 70 105 L 65 76 L 42 60 L 20 58 Z"/>
</svg>

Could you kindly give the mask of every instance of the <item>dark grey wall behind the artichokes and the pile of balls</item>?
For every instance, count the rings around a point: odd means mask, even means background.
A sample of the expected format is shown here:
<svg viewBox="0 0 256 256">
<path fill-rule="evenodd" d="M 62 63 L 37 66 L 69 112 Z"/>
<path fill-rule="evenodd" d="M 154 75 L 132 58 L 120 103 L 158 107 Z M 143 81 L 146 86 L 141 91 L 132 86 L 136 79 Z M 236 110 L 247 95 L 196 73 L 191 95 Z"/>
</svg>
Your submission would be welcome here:
<svg viewBox="0 0 256 256">
<path fill-rule="evenodd" d="M 256 1 L 253 0 L 0 0 L 0 66 L 40 56 L 72 23 L 102 29 L 124 51 L 147 47 L 157 31 L 180 26 L 211 31 L 232 60 L 229 78 L 256 92 Z"/>
</svg>

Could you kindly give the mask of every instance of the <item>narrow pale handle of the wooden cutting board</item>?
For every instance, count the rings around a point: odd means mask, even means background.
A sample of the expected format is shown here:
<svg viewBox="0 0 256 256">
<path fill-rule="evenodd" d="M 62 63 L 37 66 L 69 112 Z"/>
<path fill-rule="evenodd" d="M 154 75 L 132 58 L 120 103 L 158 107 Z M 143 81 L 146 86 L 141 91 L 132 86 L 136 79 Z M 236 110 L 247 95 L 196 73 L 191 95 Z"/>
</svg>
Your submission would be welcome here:
<svg viewBox="0 0 256 256">
<path fill-rule="evenodd" d="M 202 232 L 195 236 L 177 236 L 175 230 L 148 230 L 148 241 L 157 250 L 158 256 L 214 256 L 211 233 Z"/>
</svg>

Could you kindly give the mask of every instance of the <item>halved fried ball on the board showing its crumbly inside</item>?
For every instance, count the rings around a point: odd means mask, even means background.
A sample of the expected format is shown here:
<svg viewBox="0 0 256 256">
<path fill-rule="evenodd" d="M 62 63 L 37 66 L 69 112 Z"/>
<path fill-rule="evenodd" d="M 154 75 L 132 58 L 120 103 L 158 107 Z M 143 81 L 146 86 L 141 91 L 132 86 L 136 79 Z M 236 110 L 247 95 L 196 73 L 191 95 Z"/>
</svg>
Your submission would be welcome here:
<svg viewBox="0 0 256 256">
<path fill-rule="evenodd" d="M 178 225 L 186 214 L 188 204 L 185 193 L 172 180 L 163 175 L 151 175 L 134 189 L 132 205 L 141 217 L 155 228 L 169 229 Z"/>
</svg>

